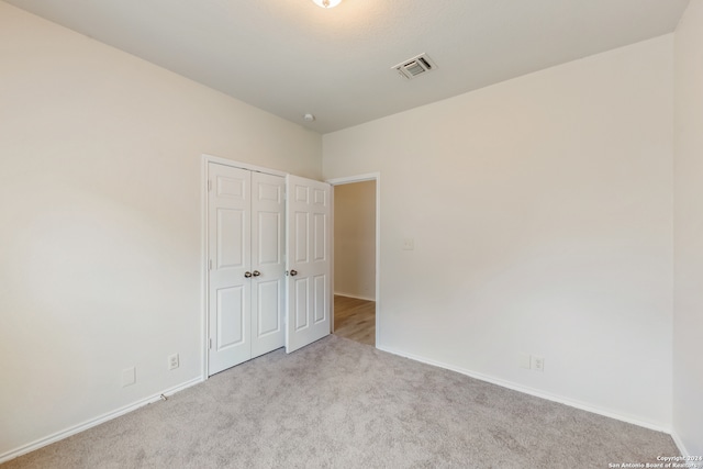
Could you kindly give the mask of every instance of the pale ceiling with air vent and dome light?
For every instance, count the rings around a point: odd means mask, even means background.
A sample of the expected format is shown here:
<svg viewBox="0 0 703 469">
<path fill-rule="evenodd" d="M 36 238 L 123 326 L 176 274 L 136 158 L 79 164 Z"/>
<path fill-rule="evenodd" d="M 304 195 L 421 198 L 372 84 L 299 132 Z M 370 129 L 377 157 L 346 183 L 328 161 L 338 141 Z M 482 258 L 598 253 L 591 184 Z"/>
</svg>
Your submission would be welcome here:
<svg viewBox="0 0 703 469">
<path fill-rule="evenodd" d="M 5 1 L 320 133 L 670 33 L 689 3 Z M 422 53 L 432 72 L 391 69 Z"/>
</svg>

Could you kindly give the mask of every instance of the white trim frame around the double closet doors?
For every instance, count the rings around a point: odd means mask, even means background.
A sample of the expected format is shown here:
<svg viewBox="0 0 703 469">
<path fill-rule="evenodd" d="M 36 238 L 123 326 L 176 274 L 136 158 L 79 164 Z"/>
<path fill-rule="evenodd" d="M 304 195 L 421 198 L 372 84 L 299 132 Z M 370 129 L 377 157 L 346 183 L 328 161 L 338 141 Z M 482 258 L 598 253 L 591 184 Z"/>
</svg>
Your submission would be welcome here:
<svg viewBox="0 0 703 469">
<path fill-rule="evenodd" d="M 202 362 L 202 380 L 207 380 L 209 378 L 209 364 L 208 364 L 208 349 L 209 349 L 209 338 L 210 338 L 210 319 L 208 317 L 208 165 L 210 163 L 216 163 L 219 165 L 232 166 L 234 168 L 247 169 L 249 171 L 256 172 L 265 172 L 267 175 L 286 177 L 286 172 L 277 171 L 275 169 L 264 168 L 260 166 L 249 165 L 247 163 L 235 161 L 232 159 L 221 158 L 219 156 L 202 154 L 201 156 L 201 166 L 200 166 L 200 239 L 201 239 L 201 250 L 200 250 L 200 265 L 202 266 L 202 270 L 200 273 L 200 298 L 201 298 L 201 331 L 200 337 L 202 342 L 200 343 L 201 357 L 200 360 Z"/>
</svg>

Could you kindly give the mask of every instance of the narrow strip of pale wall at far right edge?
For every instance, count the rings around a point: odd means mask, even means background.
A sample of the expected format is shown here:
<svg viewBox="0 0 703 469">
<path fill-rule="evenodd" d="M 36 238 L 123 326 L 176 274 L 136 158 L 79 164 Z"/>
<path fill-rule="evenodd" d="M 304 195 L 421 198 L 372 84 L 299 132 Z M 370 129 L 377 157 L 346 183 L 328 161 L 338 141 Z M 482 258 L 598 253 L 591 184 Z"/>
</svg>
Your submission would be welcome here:
<svg viewBox="0 0 703 469">
<path fill-rule="evenodd" d="M 703 0 L 692 0 L 674 47 L 673 428 L 703 455 Z"/>
</svg>

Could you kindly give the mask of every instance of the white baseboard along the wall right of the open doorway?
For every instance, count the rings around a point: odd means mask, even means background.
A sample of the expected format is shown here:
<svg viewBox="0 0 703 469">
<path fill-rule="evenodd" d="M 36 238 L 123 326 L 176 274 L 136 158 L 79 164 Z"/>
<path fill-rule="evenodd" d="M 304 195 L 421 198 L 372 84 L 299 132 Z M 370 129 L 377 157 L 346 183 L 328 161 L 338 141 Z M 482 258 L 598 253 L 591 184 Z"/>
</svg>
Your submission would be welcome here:
<svg viewBox="0 0 703 469">
<path fill-rule="evenodd" d="M 616 414 L 616 413 L 613 413 L 612 411 L 607 411 L 607 410 L 604 410 L 604 409 L 599 409 L 599 407 L 595 407 L 595 406 L 593 406 L 591 404 L 587 404 L 584 402 L 574 401 L 572 399 L 568 399 L 568 398 L 561 397 L 561 395 L 550 394 L 548 392 L 539 391 L 537 389 L 528 388 L 528 387 L 525 387 L 525 386 L 522 386 L 522 384 L 517 384 L 517 383 L 514 383 L 514 382 L 511 382 L 511 381 L 506 381 L 506 380 L 503 380 L 503 379 L 500 379 L 500 378 L 494 378 L 494 377 L 491 377 L 491 376 L 488 376 L 488 375 L 483 375 L 483 373 L 479 373 L 479 372 L 476 372 L 476 371 L 467 370 L 467 369 L 464 369 L 464 368 L 455 367 L 455 366 L 451 366 L 451 365 L 443 364 L 440 361 L 435 361 L 435 360 L 427 359 L 427 358 L 424 358 L 424 357 L 420 357 L 420 356 L 416 356 L 416 355 L 406 354 L 404 351 L 394 350 L 394 349 L 389 348 L 389 347 L 383 347 L 383 346 L 377 345 L 376 348 L 378 348 L 379 350 L 388 351 L 389 354 L 393 354 L 393 355 L 398 355 L 398 356 L 401 356 L 401 357 L 410 358 L 411 360 L 415 360 L 415 361 L 420 361 L 420 362 L 423 362 L 423 364 L 432 365 L 432 366 L 435 366 L 435 367 L 444 368 L 444 369 L 447 369 L 447 370 L 456 371 L 458 373 L 466 375 L 468 377 L 476 378 L 476 379 L 479 379 L 481 381 L 487 381 L 487 382 L 490 382 L 492 384 L 498 384 L 498 386 L 503 387 L 503 388 L 512 389 L 513 391 L 518 391 L 518 392 L 522 392 L 522 393 L 525 393 L 525 394 L 534 395 L 536 398 L 546 399 L 547 401 L 558 402 L 560 404 L 569 405 L 570 407 L 580 409 L 582 411 L 591 412 L 591 413 L 603 415 L 603 416 L 606 416 L 606 417 L 610 417 L 610 418 L 615 418 L 615 420 L 618 420 L 618 421 L 622 421 L 622 422 L 631 423 L 633 425 L 637 425 L 637 426 L 641 426 L 641 427 L 645 427 L 645 428 L 654 429 L 656 432 L 661 432 L 661 433 L 666 433 L 666 434 L 672 435 L 671 434 L 671 428 L 663 427 L 663 426 L 660 426 L 660 425 L 657 425 L 657 424 L 652 424 L 650 422 L 633 418 L 633 417 L 627 416 L 627 415 Z M 672 437 L 673 437 L 673 435 L 672 435 Z M 676 438 L 674 438 L 674 443 L 677 443 Z M 677 445 L 678 445 L 678 443 L 677 443 Z M 679 449 L 682 449 L 681 446 L 679 446 Z"/>
</svg>

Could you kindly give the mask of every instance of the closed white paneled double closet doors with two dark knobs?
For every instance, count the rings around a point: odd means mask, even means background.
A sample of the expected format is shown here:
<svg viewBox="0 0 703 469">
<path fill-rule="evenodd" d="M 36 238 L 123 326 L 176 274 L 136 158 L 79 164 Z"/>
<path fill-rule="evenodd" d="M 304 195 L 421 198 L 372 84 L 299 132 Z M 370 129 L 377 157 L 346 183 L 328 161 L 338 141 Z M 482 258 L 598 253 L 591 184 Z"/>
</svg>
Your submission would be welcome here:
<svg viewBox="0 0 703 469">
<path fill-rule="evenodd" d="M 208 164 L 209 375 L 284 345 L 279 176 Z"/>
</svg>

